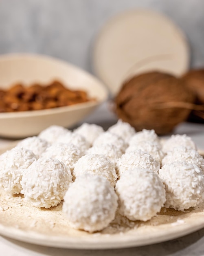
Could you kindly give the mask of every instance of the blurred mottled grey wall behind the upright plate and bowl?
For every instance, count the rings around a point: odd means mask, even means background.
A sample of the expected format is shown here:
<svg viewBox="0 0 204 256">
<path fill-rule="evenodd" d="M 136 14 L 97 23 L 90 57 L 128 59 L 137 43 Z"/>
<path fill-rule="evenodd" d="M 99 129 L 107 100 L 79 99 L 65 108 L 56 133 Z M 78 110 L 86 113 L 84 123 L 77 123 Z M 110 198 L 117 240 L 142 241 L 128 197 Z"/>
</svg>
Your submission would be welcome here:
<svg viewBox="0 0 204 256">
<path fill-rule="evenodd" d="M 48 54 L 91 71 L 97 31 L 136 7 L 173 19 L 191 45 L 191 65 L 204 66 L 204 0 L 0 0 L 0 54 Z"/>
</svg>

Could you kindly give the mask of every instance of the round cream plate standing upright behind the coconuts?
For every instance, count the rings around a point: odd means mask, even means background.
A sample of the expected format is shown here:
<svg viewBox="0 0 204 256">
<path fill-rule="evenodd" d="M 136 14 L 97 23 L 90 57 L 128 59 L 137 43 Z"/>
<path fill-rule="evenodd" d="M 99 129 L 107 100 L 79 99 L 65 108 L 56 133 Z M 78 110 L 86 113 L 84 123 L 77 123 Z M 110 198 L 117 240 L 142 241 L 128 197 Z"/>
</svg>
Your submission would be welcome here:
<svg viewBox="0 0 204 256">
<path fill-rule="evenodd" d="M 113 94 L 134 74 L 160 70 L 180 76 L 188 67 L 184 34 L 169 18 L 150 10 L 116 15 L 94 44 L 93 69 Z"/>
</svg>

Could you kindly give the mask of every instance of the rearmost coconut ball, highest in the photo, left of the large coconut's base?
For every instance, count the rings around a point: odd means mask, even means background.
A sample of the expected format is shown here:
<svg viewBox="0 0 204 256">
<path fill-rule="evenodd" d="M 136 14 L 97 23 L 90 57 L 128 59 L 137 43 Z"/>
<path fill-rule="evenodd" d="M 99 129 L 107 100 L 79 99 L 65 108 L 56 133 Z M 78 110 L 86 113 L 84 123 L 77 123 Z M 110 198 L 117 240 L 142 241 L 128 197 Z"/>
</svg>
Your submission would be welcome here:
<svg viewBox="0 0 204 256">
<path fill-rule="evenodd" d="M 129 123 L 123 122 L 121 119 L 111 126 L 108 131 L 118 135 L 124 139 L 126 143 L 128 143 L 129 139 L 135 134 L 135 129 Z"/>
</svg>

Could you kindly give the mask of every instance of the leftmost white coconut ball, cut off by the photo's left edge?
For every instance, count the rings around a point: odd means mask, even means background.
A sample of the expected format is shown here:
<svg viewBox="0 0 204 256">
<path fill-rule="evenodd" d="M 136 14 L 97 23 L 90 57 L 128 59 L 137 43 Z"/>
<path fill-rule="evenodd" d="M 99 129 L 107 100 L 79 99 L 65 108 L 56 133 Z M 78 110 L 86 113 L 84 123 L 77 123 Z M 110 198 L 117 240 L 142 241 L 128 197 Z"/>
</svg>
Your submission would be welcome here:
<svg viewBox="0 0 204 256">
<path fill-rule="evenodd" d="M 11 194 L 19 194 L 22 175 L 36 159 L 31 150 L 18 146 L 0 155 L 0 187 Z"/>
</svg>

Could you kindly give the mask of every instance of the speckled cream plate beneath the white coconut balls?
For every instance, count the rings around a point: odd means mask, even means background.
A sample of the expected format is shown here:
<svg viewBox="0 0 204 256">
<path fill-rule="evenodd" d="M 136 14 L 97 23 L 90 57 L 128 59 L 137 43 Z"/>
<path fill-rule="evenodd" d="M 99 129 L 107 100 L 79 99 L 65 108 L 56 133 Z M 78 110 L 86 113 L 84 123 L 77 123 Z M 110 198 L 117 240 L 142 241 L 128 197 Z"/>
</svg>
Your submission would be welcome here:
<svg viewBox="0 0 204 256">
<path fill-rule="evenodd" d="M 15 144 L 0 150 L 0 154 Z M 204 227 L 204 203 L 185 212 L 162 209 L 147 222 L 132 222 L 117 214 L 107 228 L 95 234 L 70 228 L 61 207 L 62 203 L 38 209 L 24 202 L 22 195 L 9 198 L 0 191 L 0 234 L 37 245 L 107 249 L 160 243 Z"/>
</svg>

